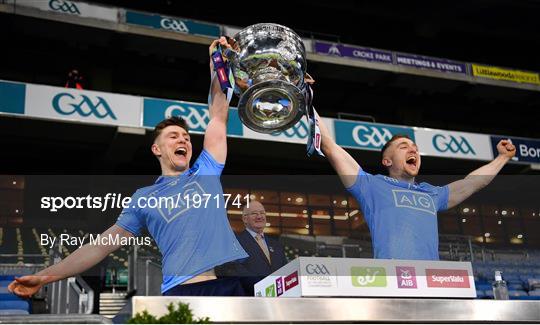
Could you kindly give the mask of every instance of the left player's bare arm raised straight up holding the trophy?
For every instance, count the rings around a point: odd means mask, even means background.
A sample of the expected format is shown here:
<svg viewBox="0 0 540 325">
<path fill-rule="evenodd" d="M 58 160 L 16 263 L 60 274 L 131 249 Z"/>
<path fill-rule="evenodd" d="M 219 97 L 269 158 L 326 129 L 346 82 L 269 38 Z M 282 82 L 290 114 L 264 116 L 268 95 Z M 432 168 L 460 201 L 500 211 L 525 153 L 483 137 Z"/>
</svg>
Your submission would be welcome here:
<svg viewBox="0 0 540 325">
<path fill-rule="evenodd" d="M 210 45 L 210 54 L 214 47 L 230 47 L 225 37 L 215 40 Z M 213 64 L 210 60 L 210 71 Z M 210 85 L 210 122 L 204 134 L 204 149 L 208 151 L 218 163 L 225 163 L 227 159 L 227 119 L 229 117 L 229 103 L 227 96 L 221 90 L 217 76 L 214 76 Z"/>
</svg>

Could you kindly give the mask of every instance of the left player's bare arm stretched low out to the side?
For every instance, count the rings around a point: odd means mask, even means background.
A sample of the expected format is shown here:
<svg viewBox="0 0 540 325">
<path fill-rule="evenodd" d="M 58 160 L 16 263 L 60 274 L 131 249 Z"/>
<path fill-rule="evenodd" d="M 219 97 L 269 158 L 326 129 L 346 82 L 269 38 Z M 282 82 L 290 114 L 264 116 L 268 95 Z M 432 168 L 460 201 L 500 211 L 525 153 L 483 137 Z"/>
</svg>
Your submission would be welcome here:
<svg viewBox="0 0 540 325">
<path fill-rule="evenodd" d="M 113 237 L 120 236 L 121 238 L 133 237 L 129 231 L 117 225 L 113 225 L 101 234 L 101 236 L 106 237 L 109 235 Z M 9 284 L 8 289 L 20 297 L 30 298 L 42 286 L 82 273 L 120 247 L 121 245 L 84 245 L 59 263 L 51 265 L 34 275 L 16 278 Z"/>
</svg>

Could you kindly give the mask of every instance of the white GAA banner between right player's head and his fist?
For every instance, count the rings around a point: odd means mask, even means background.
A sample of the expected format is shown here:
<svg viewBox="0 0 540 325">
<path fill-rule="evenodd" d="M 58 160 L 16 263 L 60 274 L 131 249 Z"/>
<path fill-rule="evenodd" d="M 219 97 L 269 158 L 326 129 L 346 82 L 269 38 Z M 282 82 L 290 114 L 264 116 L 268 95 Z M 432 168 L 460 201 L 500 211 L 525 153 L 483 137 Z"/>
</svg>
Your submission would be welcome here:
<svg viewBox="0 0 540 325">
<path fill-rule="evenodd" d="M 415 138 L 422 154 L 477 160 L 493 159 L 488 135 L 418 128 L 415 130 Z"/>
</svg>

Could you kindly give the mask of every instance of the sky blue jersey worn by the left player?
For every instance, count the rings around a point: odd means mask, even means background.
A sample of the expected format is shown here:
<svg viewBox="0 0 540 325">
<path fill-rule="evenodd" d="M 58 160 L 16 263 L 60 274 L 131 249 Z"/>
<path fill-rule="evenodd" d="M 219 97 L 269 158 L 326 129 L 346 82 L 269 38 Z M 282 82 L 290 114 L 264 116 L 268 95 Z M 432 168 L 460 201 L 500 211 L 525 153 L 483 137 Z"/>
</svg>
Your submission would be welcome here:
<svg viewBox="0 0 540 325">
<path fill-rule="evenodd" d="M 163 255 L 161 292 L 217 265 L 248 257 L 227 219 L 220 182 L 223 167 L 203 150 L 184 174 L 160 176 L 154 185 L 137 190 L 116 221 L 135 236 L 146 227 L 156 241 Z M 141 197 L 147 203 L 169 203 L 142 207 Z M 155 199 L 147 200 L 150 197 Z M 202 204 L 197 207 L 199 197 Z"/>
</svg>

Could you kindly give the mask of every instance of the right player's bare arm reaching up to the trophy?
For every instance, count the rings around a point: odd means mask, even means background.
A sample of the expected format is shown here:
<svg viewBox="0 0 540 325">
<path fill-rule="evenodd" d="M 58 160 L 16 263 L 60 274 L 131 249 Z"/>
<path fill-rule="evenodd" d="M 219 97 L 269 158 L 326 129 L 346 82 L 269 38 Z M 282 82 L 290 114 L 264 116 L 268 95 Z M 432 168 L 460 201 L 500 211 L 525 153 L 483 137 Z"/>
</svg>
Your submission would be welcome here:
<svg viewBox="0 0 540 325">
<path fill-rule="evenodd" d="M 360 171 L 360 165 L 345 149 L 341 148 L 334 141 L 319 115 L 317 115 L 317 120 L 319 121 L 319 128 L 321 130 L 321 149 L 324 155 L 328 158 L 332 167 L 334 167 L 343 185 L 345 187 L 353 186 L 356 176 Z"/>
</svg>

